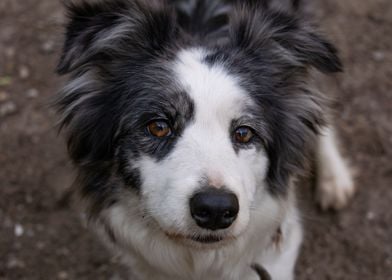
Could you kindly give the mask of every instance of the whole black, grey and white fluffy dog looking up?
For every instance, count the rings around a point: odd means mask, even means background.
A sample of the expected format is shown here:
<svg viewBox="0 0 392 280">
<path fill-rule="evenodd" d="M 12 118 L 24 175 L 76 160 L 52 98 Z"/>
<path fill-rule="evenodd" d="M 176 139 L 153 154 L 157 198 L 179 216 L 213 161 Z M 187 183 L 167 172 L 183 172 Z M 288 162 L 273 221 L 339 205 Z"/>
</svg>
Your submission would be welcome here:
<svg viewBox="0 0 392 280">
<path fill-rule="evenodd" d="M 336 48 L 272 2 L 67 4 L 55 106 L 82 210 L 130 279 L 293 279 L 312 148 L 321 205 L 352 196 L 308 83 L 341 71 Z"/>
</svg>

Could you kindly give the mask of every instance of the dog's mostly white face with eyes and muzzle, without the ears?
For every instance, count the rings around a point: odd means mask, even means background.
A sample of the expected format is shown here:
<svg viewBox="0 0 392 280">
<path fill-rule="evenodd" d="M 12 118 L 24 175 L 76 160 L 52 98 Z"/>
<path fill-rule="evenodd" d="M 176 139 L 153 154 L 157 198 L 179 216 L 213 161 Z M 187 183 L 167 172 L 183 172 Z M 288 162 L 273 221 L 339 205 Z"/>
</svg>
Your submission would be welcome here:
<svg viewBox="0 0 392 280">
<path fill-rule="evenodd" d="M 169 92 L 154 93 L 148 103 L 143 98 L 141 126 L 131 129 L 140 130 L 132 145 L 141 153 L 135 157 L 128 145 L 121 153 L 140 174 L 140 195 L 160 227 L 208 242 L 212 236 L 199 234 L 246 228 L 268 159 L 261 108 L 238 78 L 208 65 L 206 56 L 185 49 L 168 63 Z"/>
</svg>

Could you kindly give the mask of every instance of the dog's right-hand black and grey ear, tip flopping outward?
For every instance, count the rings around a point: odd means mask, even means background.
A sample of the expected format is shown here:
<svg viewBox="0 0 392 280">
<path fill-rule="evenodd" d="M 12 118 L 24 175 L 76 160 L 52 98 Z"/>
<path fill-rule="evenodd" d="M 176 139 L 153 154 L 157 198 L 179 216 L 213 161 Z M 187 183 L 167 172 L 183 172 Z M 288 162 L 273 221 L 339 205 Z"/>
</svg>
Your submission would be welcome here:
<svg viewBox="0 0 392 280">
<path fill-rule="evenodd" d="M 336 48 L 305 20 L 295 14 L 274 11 L 259 1 L 247 2 L 250 3 L 240 5 L 232 16 L 234 46 L 257 53 L 275 45 L 282 56 L 298 66 L 313 66 L 324 73 L 342 70 Z"/>
</svg>

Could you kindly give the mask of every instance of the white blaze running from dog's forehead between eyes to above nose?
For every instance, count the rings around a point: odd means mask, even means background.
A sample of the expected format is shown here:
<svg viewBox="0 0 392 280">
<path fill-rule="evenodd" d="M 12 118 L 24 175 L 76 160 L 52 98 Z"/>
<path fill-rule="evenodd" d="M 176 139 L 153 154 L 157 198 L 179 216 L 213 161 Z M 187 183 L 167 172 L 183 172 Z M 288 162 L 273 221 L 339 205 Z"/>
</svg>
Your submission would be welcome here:
<svg viewBox="0 0 392 280">
<path fill-rule="evenodd" d="M 174 153 L 194 158 L 203 176 L 215 187 L 227 185 L 238 163 L 231 142 L 233 120 L 246 115 L 250 103 L 238 78 L 223 65 L 208 65 L 201 49 L 183 50 L 174 63 L 177 81 L 195 104 L 193 122 L 187 126 Z M 181 152 L 181 150 L 183 151 Z"/>
</svg>

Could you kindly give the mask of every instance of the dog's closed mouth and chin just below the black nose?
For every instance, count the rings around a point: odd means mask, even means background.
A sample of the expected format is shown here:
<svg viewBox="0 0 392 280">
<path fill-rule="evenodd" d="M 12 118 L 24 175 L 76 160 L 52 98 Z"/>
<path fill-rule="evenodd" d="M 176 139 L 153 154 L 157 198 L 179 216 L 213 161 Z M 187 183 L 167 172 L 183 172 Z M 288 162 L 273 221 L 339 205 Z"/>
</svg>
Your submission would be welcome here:
<svg viewBox="0 0 392 280">
<path fill-rule="evenodd" d="M 165 235 L 172 241 L 186 247 L 200 249 L 217 249 L 235 242 L 236 238 L 224 234 L 179 234 L 165 232 Z"/>
</svg>

